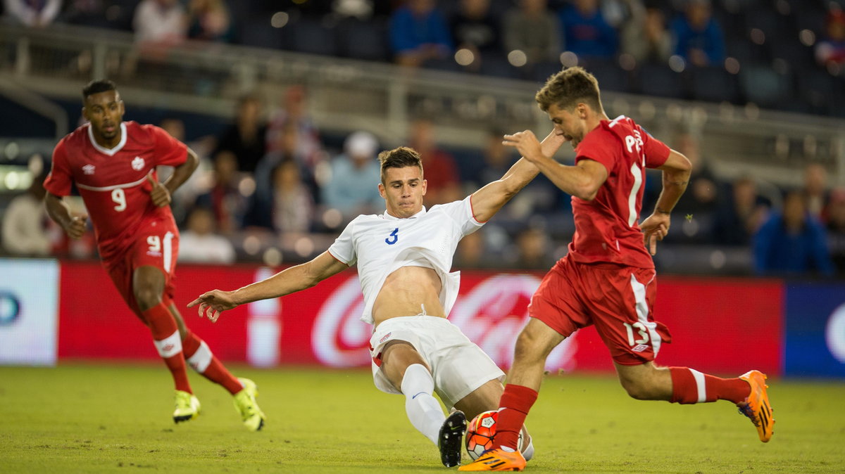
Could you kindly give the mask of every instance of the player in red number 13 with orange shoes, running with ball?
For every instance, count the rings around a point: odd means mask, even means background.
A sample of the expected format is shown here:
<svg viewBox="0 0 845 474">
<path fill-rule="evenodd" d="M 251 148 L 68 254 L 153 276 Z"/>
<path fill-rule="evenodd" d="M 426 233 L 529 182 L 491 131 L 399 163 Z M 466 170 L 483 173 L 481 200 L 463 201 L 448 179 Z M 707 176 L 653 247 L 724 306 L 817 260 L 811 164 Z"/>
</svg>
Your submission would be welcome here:
<svg viewBox="0 0 845 474">
<path fill-rule="evenodd" d="M 653 362 L 661 344 L 671 339 L 667 327 L 651 314 L 657 292 L 651 255 L 686 189 L 690 161 L 630 118 L 610 120 L 596 78 L 581 67 L 554 74 L 536 100 L 575 148 L 575 165 L 544 156 L 529 131 L 505 136 L 504 143 L 572 195 L 575 235 L 568 255 L 543 278 L 528 307 L 531 319 L 517 337 L 514 364 L 499 401 L 496 448 L 460 470 L 521 471 L 526 466 L 516 441 L 537 400 L 545 360 L 565 337 L 591 325 L 610 350 L 619 381 L 631 397 L 673 403 L 728 400 L 751 418 L 760 440 L 768 441 L 774 420 L 766 375 L 751 370 L 722 379 Z M 662 170 L 662 192 L 654 212 L 637 224 L 646 168 Z"/>
</svg>

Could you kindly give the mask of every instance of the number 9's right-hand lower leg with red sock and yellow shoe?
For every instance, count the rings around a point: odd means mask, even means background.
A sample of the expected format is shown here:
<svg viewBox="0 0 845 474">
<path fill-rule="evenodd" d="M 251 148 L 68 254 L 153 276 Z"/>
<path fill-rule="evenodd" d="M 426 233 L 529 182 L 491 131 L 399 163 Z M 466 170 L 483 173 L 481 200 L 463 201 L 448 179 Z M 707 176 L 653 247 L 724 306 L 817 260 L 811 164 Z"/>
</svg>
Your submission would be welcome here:
<svg viewBox="0 0 845 474">
<path fill-rule="evenodd" d="M 196 370 L 206 379 L 219 384 L 234 396 L 233 403 L 238 414 L 241 415 L 244 426 L 250 431 L 259 431 L 264 427 L 264 412 L 259 408 L 255 398 L 258 396 L 258 387 L 255 382 L 248 379 L 237 379 L 230 373 L 221 361 L 211 352 L 208 344 L 199 338 L 185 325 L 182 315 L 176 309 L 170 299 L 165 298 L 170 307 L 173 319 L 183 334 L 182 351 L 185 360 L 192 369 Z"/>
</svg>

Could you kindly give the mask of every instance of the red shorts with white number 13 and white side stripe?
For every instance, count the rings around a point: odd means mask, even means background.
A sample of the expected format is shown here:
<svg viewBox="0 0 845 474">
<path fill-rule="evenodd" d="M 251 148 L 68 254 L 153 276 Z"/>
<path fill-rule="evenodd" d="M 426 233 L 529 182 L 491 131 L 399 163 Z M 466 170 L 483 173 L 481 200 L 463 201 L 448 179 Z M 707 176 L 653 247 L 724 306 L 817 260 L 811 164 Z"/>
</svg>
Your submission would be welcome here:
<svg viewBox="0 0 845 474">
<path fill-rule="evenodd" d="M 594 325 L 614 361 L 639 365 L 672 341 L 668 328 L 651 317 L 656 294 L 653 268 L 586 265 L 564 257 L 543 277 L 528 315 L 564 337 Z"/>
</svg>

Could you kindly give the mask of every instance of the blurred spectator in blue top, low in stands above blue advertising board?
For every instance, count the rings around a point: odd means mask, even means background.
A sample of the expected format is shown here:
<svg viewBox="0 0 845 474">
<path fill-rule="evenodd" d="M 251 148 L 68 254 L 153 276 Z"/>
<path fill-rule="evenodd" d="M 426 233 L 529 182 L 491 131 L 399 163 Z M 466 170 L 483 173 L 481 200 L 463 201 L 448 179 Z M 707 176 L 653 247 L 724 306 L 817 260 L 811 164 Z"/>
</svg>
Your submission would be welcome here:
<svg viewBox="0 0 845 474">
<path fill-rule="evenodd" d="M 807 212 L 804 193 L 790 191 L 782 212 L 771 213 L 754 236 L 758 275 L 797 276 L 834 273 L 821 223 Z"/>
</svg>

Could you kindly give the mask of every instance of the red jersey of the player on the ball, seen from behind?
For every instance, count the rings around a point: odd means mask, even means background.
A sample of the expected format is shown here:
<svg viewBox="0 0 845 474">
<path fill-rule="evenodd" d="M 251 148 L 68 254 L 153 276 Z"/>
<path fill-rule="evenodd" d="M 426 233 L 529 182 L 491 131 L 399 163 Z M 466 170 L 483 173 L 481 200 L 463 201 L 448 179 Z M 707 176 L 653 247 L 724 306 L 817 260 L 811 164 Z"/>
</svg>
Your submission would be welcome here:
<svg viewBox="0 0 845 474">
<path fill-rule="evenodd" d="M 666 162 L 669 148 L 633 120 L 602 121 L 575 147 L 575 163 L 592 159 L 608 170 L 596 198 L 572 197 L 575 235 L 569 256 L 580 263 L 654 268 L 638 224 L 646 168 Z"/>
</svg>

